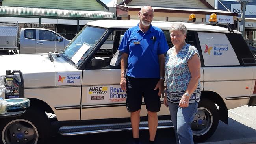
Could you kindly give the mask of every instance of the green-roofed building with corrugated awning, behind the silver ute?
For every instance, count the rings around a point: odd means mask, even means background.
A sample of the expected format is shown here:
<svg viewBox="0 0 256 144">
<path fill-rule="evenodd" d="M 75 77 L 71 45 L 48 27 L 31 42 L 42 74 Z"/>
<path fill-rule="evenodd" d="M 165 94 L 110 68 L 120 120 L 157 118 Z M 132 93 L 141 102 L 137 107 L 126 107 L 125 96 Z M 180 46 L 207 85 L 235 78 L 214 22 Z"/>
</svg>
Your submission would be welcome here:
<svg viewBox="0 0 256 144">
<path fill-rule="evenodd" d="M 115 19 L 100 0 L 0 0 L 0 22 L 57 31 L 72 39 L 92 20 Z"/>
</svg>

